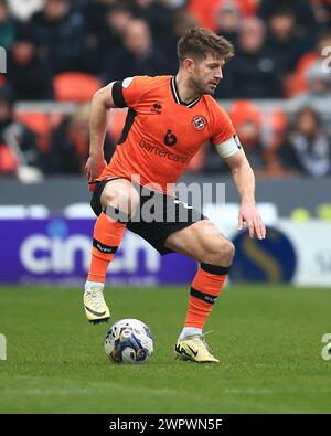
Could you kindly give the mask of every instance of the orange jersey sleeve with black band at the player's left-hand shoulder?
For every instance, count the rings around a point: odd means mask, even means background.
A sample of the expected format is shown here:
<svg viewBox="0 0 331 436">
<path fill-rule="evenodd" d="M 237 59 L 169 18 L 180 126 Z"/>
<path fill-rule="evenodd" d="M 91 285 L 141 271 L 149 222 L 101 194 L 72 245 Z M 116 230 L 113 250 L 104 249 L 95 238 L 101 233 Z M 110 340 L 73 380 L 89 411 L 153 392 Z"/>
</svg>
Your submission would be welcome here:
<svg viewBox="0 0 331 436">
<path fill-rule="evenodd" d="M 114 82 L 111 96 L 116 107 L 130 107 L 135 109 L 150 85 L 148 76 L 127 77 Z"/>
</svg>

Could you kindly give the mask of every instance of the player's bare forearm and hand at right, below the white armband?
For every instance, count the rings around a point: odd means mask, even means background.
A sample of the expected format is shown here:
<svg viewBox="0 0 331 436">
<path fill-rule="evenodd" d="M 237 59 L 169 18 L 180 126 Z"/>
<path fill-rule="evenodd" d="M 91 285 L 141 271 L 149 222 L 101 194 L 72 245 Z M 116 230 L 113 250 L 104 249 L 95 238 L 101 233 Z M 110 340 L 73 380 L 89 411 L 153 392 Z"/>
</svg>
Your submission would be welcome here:
<svg viewBox="0 0 331 436">
<path fill-rule="evenodd" d="M 250 237 L 256 234 L 259 240 L 264 240 L 266 226 L 256 208 L 255 176 L 243 148 L 229 157 L 223 157 L 223 160 L 229 167 L 241 195 L 238 230 L 243 230 L 245 222 Z"/>
</svg>

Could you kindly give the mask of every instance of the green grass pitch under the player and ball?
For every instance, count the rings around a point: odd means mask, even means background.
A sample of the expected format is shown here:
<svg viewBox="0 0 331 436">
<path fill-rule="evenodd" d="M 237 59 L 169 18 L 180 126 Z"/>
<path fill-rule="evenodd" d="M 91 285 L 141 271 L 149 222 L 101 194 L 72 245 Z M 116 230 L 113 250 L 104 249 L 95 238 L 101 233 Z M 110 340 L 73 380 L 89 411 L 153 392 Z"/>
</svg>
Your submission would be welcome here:
<svg viewBox="0 0 331 436">
<path fill-rule="evenodd" d="M 107 289 L 113 319 L 138 318 L 156 337 L 147 364 L 108 361 L 107 325 L 85 319 L 79 289 L 0 288 L 0 413 L 330 413 L 331 291 L 233 286 L 206 330 L 221 364 L 173 359 L 188 289 Z"/>
</svg>

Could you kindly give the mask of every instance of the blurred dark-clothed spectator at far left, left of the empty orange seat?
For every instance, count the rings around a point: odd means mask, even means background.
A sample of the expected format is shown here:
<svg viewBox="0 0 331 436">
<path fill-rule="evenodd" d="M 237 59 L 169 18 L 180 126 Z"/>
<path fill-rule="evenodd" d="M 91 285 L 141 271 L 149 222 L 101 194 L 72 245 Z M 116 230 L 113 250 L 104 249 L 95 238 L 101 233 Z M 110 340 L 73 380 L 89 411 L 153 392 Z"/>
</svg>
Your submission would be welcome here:
<svg viewBox="0 0 331 436">
<path fill-rule="evenodd" d="M 7 78 L 19 100 L 53 99 L 52 74 L 36 53 L 30 28 L 18 31 L 8 59 Z"/>
</svg>

